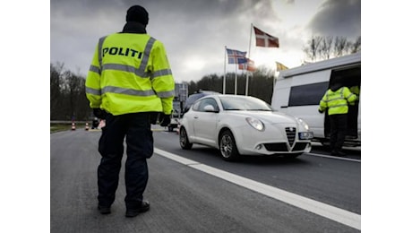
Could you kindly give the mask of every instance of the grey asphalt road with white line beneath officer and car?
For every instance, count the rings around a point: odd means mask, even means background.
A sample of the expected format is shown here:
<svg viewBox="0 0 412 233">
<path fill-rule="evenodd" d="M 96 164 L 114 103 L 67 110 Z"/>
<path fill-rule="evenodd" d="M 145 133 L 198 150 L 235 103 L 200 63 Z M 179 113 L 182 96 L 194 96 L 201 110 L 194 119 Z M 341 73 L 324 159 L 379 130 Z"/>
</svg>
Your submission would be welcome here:
<svg viewBox="0 0 412 233">
<path fill-rule="evenodd" d="M 156 151 L 149 160 L 150 211 L 124 217 L 122 168 L 112 213 L 101 215 L 99 134 L 81 129 L 50 134 L 50 232 L 360 231 L 360 153 L 351 160 L 311 153 L 292 161 L 230 163 L 210 148 L 180 150 L 177 135 L 163 131 L 154 132 Z M 355 217 L 355 224 L 334 214 Z"/>
</svg>

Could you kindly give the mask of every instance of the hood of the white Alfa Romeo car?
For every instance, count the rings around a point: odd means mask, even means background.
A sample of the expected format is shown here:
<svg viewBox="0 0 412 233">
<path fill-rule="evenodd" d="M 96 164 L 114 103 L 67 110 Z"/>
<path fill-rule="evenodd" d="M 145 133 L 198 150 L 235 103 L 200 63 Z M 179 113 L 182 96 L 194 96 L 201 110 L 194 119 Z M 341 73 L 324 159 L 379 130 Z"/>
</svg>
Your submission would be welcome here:
<svg viewBox="0 0 412 233">
<path fill-rule="evenodd" d="M 296 124 L 296 118 L 294 116 L 288 116 L 280 112 L 270 111 L 227 111 L 228 114 L 234 114 L 237 116 L 250 116 L 258 118 L 264 122 L 270 124 Z"/>
</svg>

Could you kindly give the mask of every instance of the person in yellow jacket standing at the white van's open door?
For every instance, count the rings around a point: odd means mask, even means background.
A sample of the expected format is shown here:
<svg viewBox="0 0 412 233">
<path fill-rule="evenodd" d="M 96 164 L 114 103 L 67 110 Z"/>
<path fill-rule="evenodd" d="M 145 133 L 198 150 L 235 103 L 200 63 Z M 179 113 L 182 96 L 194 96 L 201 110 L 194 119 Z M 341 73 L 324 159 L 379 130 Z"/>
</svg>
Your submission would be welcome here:
<svg viewBox="0 0 412 233">
<path fill-rule="evenodd" d="M 335 80 L 339 80 L 339 77 Z M 338 81 L 330 84 L 330 89 L 325 92 L 319 103 L 320 113 L 328 108 L 331 155 L 345 155 L 342 146 L 348 125 L 348 104 L 354 103 L 356 99 L 356 95 Z"/>
</svg>

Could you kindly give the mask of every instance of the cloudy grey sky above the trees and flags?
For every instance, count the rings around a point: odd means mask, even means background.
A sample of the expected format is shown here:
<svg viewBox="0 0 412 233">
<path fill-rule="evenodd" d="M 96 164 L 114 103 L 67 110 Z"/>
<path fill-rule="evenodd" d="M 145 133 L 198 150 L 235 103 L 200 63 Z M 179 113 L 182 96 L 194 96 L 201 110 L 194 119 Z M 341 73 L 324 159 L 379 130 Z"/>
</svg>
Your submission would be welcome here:
<svg viewBox="0 0 412 233">
<path fill-rule="evenodd" d="M 313 35 L 361 36 L 360 0 L 51 0 L 50 62 L 87 74 L 100 37 L 123 29 L 133 4 L 149 12 L 148 33 L 162 41 L 176 82 L 225 72 L 225 46 L 249 52 L 255 65 L 301 65 Z M 279 38 L 256 47 L 251 25 Z M 226 65 L 235 72 L 235 65 Z"/>
</svg>

